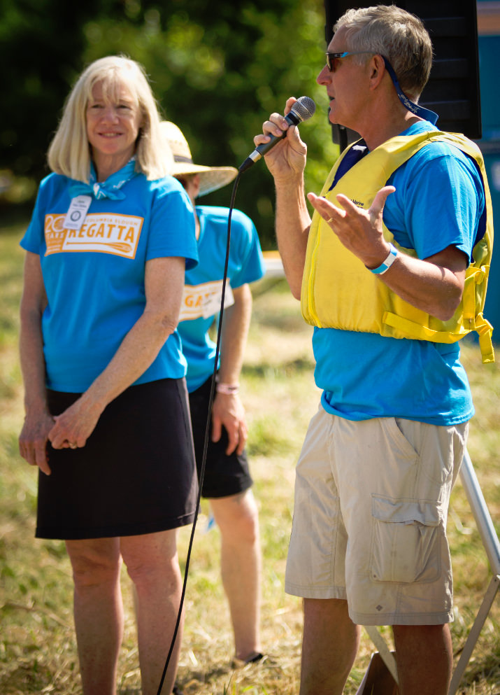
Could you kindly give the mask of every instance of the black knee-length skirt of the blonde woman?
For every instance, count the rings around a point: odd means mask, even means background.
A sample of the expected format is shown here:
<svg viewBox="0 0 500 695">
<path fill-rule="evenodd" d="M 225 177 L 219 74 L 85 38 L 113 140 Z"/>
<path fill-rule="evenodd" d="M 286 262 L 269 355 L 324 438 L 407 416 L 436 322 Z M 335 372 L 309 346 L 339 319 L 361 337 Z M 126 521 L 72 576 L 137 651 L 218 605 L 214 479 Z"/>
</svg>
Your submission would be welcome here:
<svg viewBox="0 0 500 695">
<path fill-rule="evenodd" d="M 48 392 L 57 415 L 80 394 Z M 38 474 L 38 538 L 110 538 L 192 523 L 198 482 L 184 379 L 130 386 L 81 449 L 52 449 Z"/>
</svg>

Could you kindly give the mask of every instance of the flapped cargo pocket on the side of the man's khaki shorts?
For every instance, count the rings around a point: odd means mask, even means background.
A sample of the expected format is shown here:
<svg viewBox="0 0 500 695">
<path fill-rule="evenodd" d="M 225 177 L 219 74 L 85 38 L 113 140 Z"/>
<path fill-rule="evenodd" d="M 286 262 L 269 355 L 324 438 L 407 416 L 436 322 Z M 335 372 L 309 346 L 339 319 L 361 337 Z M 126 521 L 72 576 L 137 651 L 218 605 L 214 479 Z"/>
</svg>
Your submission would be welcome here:
<svg viewBox="0 0 500 695">
<path fill-rule="evenodd" d="M 434 582 L 441 573 L 440 507 L 372 496 L 370 575 L 376 582 Z"/>
</svg>

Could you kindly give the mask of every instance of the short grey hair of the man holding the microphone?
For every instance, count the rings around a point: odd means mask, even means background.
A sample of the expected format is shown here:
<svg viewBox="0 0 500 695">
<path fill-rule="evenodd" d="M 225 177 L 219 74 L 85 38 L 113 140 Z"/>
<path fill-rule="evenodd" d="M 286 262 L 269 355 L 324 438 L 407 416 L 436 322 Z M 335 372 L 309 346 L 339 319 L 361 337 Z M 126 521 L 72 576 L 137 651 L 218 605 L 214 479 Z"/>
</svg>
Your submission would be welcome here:
<svg viewBox="0 0 500 695">
<path fill-rule="evenodd" d="M 424 24 L 395 5 L 347 10 L 334 26 L 345 28 L 348 50 L 367 50 L 387 58 L 403 92 L 418 99 L 432 66 L 432 43 Z M 354 56 L 362 60 L 361 56 Z"/>
</svg>

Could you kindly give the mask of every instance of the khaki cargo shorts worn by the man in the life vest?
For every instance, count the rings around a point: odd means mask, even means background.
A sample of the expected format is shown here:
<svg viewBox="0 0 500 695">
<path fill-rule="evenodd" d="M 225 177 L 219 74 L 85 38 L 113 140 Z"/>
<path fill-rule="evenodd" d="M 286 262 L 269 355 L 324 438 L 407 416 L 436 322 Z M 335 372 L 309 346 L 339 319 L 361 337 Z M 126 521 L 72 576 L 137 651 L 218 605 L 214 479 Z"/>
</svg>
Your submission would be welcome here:
<svg viewBox="0 0 500 695">
<path fill-rule="evenodd" d="M 297 463 L 287 594 L 347 599 L 359 625 L 451 622 L 446 517 L 467 431 L 320 406 Z"/>
</svg>

